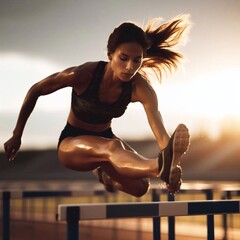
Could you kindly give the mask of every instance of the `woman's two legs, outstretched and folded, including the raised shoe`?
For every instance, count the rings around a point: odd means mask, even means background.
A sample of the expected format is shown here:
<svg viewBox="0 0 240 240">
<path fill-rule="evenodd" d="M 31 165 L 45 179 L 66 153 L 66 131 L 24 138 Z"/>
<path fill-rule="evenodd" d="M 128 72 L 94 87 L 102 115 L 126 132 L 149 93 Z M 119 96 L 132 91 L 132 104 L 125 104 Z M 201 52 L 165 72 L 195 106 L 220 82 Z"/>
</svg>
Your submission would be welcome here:
<svg viewBox="0 0 240 240">
<path fill-rule="evenodd" d="M 126 149 L 119 139 L 69 137 L 59 146 L 59 160 L 66 167 L 78 171 L 101 167 L 116 188 L 135 196 L 147 191 L 149 184 L 143 179 L 148 177 L 160 177 L 167 183 L 169 192 L 175 193 L 180 189 L 182 176 L 178 164 L 188 148 L 189 138 L 188 129 L 180 124 L 158 159 L 150 160 Z M 134 187 L 142 192 L 133 192 Z"/>
</svg>

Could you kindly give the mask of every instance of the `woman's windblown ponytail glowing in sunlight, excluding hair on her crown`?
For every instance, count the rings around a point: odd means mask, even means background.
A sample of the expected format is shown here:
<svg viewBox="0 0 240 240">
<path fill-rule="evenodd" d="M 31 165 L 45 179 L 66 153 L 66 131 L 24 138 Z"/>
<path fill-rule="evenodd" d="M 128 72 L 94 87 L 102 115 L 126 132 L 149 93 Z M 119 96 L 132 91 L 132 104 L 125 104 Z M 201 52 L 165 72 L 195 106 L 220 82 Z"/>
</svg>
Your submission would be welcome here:
<svg viewBox="0 0 240 240">
<path fill-rule="evenodd" d="M 149 48 L 140 70 L 146 77 L 145 69 L 153 70 L 158 80 L 162 79 L 163 73 L 172 73 L 178 68 L 184 56 L 175 47 L 186 43 L 186 29 L 190 26 L 189 15 L 180 15 L 164 24 L 161 22 L 161 18 L 154 18 L 146 25 Z"/>
</svg>

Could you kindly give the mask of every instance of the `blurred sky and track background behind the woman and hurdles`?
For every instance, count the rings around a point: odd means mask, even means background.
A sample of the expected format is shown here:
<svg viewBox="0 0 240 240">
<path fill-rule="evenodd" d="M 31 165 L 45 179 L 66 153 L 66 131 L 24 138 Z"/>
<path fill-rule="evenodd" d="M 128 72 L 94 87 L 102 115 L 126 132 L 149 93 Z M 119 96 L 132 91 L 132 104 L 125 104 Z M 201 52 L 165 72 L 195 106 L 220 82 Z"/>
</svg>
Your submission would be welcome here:
<svg viewBox="0 0 240 240">
<path fill-rule="evenodd" d="M 70 108 L 69 88 L 38 100 L 15 161 L 8 162 L 3 152 L 3 144 L 12 135 L 28 89 L 68 67 L 107 60 L 108 36 L 124 21 L 144 26 L 151 18 L 160 17 L 164 22 L 179 14 L 190 14 L 192 28 L 188 41 L 177 49 L 185 55 L 181 67 L 161 84 L 153 79 L 159 110 L 169 133 L 183 122 L 192 136 L 182 163 L 183 181 L 190 183 L 190 191 L 179 193 L 176 200 L 206 199 L 204 191 L 209 190 L 208 184 L 214 199 L 239 198 L 239 12 L 239 0 L 1 0 L 0 190 L 67 189 L 80 194 L 75 198 L 56 195 L 29 199 L 26 195 L 11 199 L 11 239 L 65 239 L 65 225 L 58 224 L 54 218 L 60 203 L 152 200 L 150 191 L 141 199 L 122 193 L 108 194 L 91 173 L 68 170 L 59 163 L 56 146 Z M 123 117 L 114 119 L 113 130 L 144 156 L 158 154 L 140 104 L 130 104 Z M 84 195 L 86 189 L 94 195 L 94 189 L 99 188 L 103 196 L 98 191 L 97 196 Z M 161 198 L 166 199 L 166 195 Z M 227 239 L 222 228 L 224 219 L 222 216 L 216 219 L 215 239 Z M 81 236 L 81 239 L 99 239 L 101 229 L 105 235 L 100 239 L 152 239 L 151 219 L 148 220 L 148 225 L 145 220 L 134 220 L 136 227 L 132 229 L 131 221 L 127 221 L 126 226 L 122 226 L 122 220 L 106 222 L 97 230 L 101 221 L 93 225 L 84 223 L 85 238 Z M 228 239 L 239 239 L 238 215 L 230 216 L 228 221 Z M 82 230 L 85 225 L 81 225 Z M 161 232 L 166 233 L 167 226 L 167 221 L 163 221 Z M 177 224 L 177 240 L 206 239 L 205 226 L 205 216 L 181 218 Z M 144 229 L 148 237 L 143 235 Z M 0 225 L 0 235 L 2 230 Z M 134 237 L 127 238 L 127 233 Z M 166 234 L 163 239 L 167 239 Z"/>
</svg>

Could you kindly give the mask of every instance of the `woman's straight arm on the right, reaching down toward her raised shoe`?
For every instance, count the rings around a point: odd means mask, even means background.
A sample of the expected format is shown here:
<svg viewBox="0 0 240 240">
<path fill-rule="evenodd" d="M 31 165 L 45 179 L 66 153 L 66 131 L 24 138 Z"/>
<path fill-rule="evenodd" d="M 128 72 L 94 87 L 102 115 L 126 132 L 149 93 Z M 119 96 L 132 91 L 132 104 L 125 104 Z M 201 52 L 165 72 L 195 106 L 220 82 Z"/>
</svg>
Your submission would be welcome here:
<svg viewBox="0 0 240 240">
<path fill-rule="evenodd" d="M 148 123 L 158 142 L 160 149 L 164 149 L 170 136 L 164 126 L 162 116 L 158 110 L 157 95 L 152 86 L 143 78 L 136 81 L 134 88 L 134 101 L 142 103 L 147 115 Z"/>
</svg>

